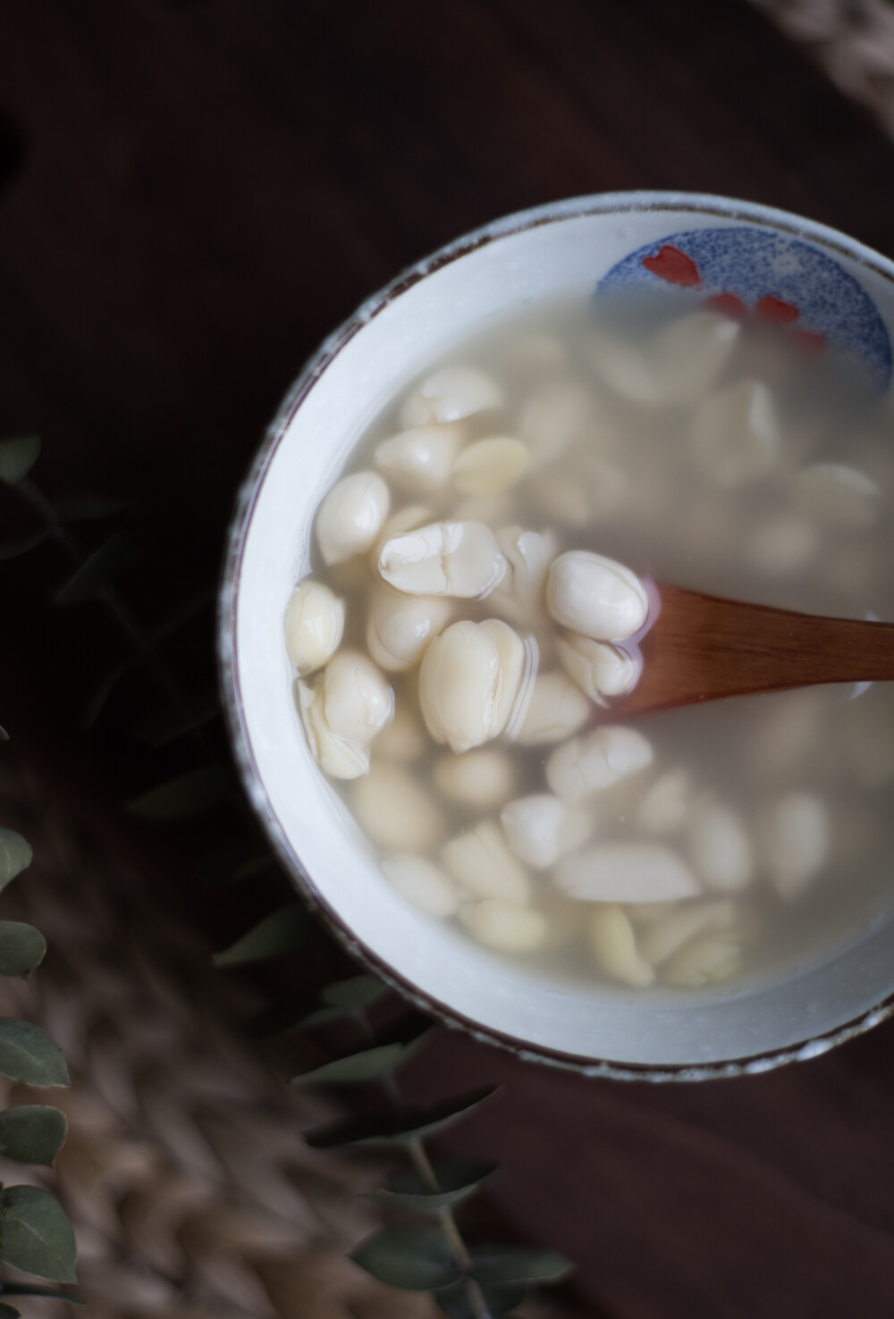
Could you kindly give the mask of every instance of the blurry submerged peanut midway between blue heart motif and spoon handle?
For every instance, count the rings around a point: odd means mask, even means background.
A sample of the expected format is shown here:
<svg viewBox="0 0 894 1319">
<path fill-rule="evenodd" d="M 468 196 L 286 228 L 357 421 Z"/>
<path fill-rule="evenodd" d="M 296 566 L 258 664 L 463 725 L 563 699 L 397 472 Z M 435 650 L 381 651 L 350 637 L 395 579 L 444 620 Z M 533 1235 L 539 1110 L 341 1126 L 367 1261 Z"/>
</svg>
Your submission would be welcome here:
<svg viewBox="0 0 894 1319">
<path fill-rule="evenodd" d="M 779 456 L 781 437 L 766 385 L 741 380 L 705 398 L 695 414 L 690 448 L 700 470 L 728 489 L 766 476 Z"/>
</svg>

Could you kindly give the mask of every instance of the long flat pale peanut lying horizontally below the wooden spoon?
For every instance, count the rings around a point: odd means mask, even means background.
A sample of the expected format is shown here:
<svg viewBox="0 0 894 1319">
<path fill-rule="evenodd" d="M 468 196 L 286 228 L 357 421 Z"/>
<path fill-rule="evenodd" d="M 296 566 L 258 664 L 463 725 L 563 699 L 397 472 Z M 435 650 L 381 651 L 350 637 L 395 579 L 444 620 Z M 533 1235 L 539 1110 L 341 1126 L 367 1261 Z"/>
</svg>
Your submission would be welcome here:
<svg viewBox="0 0 894 1319">
<path fill-rule="evenodd" d="M 559 861 L 555 882 L 585 902 L 667 902 L 699 892 L 675 852 L 653 843 L 604 843 Z"/>
</svg>

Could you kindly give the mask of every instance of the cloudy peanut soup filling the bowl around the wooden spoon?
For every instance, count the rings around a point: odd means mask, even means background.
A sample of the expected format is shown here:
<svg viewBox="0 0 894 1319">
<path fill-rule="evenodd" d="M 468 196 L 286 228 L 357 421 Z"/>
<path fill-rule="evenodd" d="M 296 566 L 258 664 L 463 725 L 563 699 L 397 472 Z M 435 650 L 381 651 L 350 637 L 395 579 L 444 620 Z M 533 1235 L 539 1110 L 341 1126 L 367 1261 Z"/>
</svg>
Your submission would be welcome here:
<svg viewBox="0 0 894 1319">
<path fill-rule="evenodd" d="M 885 919 L 890 686 L 629 724 L 612 700 L 653 578 L 894 616 L 886 406 L 828 346 L 672 294 L 538 307 L 431 361 L 320 505 L 286 611 L 305 736 L 382 884 L 483 955 L 643 996 L 766 985 Z M 591 627 L 592 555 L 622 634 Z"/>
</svg>

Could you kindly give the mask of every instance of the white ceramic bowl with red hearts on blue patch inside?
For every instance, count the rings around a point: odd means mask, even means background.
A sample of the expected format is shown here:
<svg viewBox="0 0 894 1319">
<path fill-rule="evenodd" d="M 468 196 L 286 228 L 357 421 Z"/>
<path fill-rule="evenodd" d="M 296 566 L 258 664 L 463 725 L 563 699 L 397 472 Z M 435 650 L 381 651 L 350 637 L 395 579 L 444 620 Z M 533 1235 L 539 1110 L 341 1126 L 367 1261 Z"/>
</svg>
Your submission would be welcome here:
<svg viewBox="0 0 894 1319">
<path fill-rule="evenodd" d="M 695 273 L 694 273 L 695 272 Z M 291 698 L 282 615 L 314 512 L 385 402 L 436 355 L 522 305 L 597 282 L 670 278 L 745 302 L 794 302 L 799 324 L 890 375 L 894 265 L 810 220 L 724 198 L 620 193 L 489 224 L 401 274 L 305 367 L 240 492 L 220 662 L 236 757 L 299 890 L 347 947 L 421 1006 L 521 1057 L 593 1075 L 692 1080 L 810 1058 L 894 1010 L 894 923 L 785 983 L 637 1001 L 534 977 L 409 906 L 382 878 L 311 758 Z"/>
</svg>

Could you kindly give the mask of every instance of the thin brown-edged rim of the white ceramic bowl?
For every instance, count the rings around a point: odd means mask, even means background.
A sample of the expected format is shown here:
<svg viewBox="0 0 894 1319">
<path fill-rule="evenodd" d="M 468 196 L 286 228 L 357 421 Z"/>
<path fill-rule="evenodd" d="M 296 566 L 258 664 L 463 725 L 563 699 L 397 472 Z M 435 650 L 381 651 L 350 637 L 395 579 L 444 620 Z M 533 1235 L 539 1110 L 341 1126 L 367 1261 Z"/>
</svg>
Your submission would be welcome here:
<svg viewBox="0 0 894 1319">
<path fill-rule="evenodd" d="M 282 863 L 298 893 L 352 958 L 390 985 L 402 997 L 407 998 L 414 1006 L 435 1017 L 442 1025 L 462 1030 L 481 1043 L 506 1050 L 522 1062 L 537 1062 L 585 1076 L 608 1076 L 616 1080 L 694 1082 L 754 1075 L 781 1067 L 785 1063 L 804 1062 L 827 1053 L 836 1045 L 864 1034 L 864 1031 L 870 1030 L 894 1014 L 894 989 L 874 1006 L 828 1031 L 810 1035 L 796 1043 L 778 1049 L 748 1054 L 734 1059 L 698 1064 L 621 1063 L 612 1059 L 571 1054 L 550 1049 L 546 1045 L 534 1045 L 518 1035 L 505 1034 L 483 1026 L 475 1018 L 456 1012 L 429 993 L 423 993 L 410 980 L 401 976 L 373 948 L 355 936 L 338 909 L 322 896 L 314 884 L 295 848 L 289 842 L 286 831 L 270 803 L 254 761 L 243 715 L 236 641 L 241 561 L 261 485 L 293 417 L 342 348 L 407 289 L 427 276 L 434 274 L 442 266 L 477 251 L 496 239 L 588 215 L 624 215 L 643 211 L 669 211 L 675 214 L 690 211 L 694 215 L 716 215 L 724 220 L 740 220 L 758 227 L 765 226 L 790 233 L 792 237 L 819 243 L 827 251 L 856 261 L 858 265 L 872 270 L 873 274 L 894 285 L 894 262 L 865 244 L 858 243 L 856 239 L 848 237 L 848 235 L 841 233 L 839 230 L 790 211 L 711 193 L 641 190 L 595 193 L 558 202 L 547 202 L 546 204 L 516 211 L 492 220 L 421 257 L 401 270 L 400 274 L 376 293 L 371 294 L 326 336 L 316 351 L 305 361 L 273 419 L 265 429 L 261 445 L 239 487 L 225 538 L 218 596 L 218 665 L 222 704 L 229 744 L 249 803 L 261 823 L 274 855 Z"/>
</svg>

